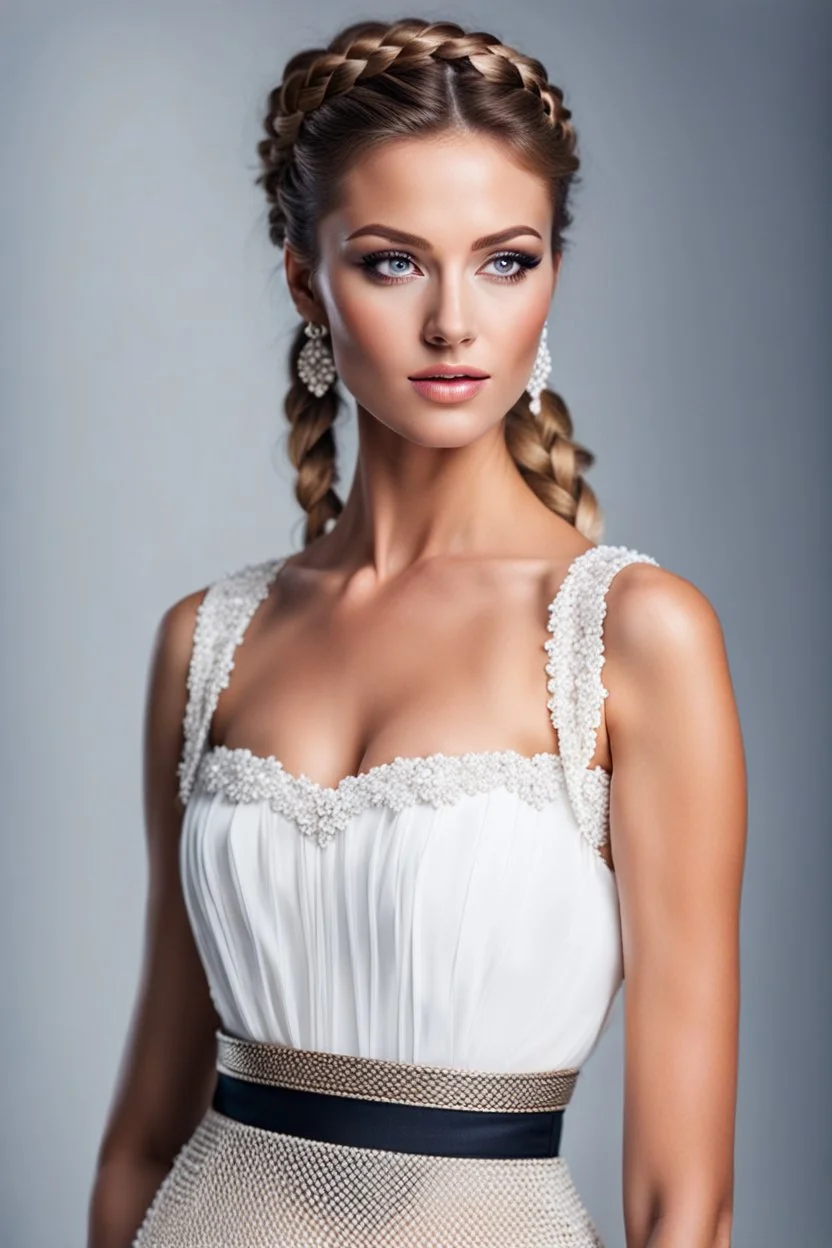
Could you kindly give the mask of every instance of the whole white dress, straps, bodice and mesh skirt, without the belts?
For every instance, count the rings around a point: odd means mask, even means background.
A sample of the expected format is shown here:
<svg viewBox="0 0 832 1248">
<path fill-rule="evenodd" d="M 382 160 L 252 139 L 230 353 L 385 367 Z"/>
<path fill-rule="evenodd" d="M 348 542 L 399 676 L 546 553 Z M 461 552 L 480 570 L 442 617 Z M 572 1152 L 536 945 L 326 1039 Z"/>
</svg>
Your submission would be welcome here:
<svg viewBox="0 0 832 1248">
<path fill-rule="evenodd" d="M 333 787 L 208 746 L 235 650 L 283 562 L 211 585 L 188 674 L 181 879 L 225 1031 L 469 1071 L 580 1067 L 622 980 L 616 881 L 599 852 L 610 775 L 589 766 L 607 695 L 606 594 L 621 568 L 656 560 L 593 547 L 550 604 L 541 696 L 558 755 L 397 758 Z M 208 1109 L 135 1244 L 600 1239 L 564 1157 L 403 1159 Z"/>
</svg>

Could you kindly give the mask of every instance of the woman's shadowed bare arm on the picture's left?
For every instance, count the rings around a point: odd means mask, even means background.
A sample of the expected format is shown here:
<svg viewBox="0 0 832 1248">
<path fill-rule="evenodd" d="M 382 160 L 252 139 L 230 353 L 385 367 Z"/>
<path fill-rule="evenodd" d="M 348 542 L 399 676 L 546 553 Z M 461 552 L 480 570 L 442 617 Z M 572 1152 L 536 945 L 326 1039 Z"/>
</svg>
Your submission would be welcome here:
<svg viewBox="0 0 832 1248">
<path fill-rule="evenodd" d="M 145 703 L 148 855 L 138 991 L 99 1147 L 87 1248 L 130 1248 L 176 1153 L 211 1103 L 220 1018 L 191 932 L 178 872 L 177 765 L 200 590 L 162 617 Z"/>
</svg>

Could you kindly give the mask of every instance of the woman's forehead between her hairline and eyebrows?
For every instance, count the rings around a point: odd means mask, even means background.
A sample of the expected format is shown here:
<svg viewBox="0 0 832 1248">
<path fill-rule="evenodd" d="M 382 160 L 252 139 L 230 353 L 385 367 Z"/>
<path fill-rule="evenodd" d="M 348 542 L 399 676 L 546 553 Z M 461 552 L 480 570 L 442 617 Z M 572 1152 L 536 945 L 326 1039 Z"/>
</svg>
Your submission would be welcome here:
<svg viewBox="0 0 832 1248">
<path fill-rule="evenodd" d="M 505 144 L 453 131 L 395 139 L 363 152 L 342 178 L 338 201 L 321 226 L 333 242 L 383 221 L 435 246 L 470 246 L 473 238 L 520 220 L 546 238 L 550 218 L 546 182 L 524 168 Z"/>
</svg>

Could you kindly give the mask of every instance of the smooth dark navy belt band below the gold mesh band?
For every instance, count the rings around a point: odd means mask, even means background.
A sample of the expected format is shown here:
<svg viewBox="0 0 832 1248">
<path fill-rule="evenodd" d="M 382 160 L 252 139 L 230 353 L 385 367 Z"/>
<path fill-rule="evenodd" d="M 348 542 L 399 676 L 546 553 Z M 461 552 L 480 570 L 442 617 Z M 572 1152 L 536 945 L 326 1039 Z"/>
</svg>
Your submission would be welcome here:
<svg viewBox="0 0 832 1248">
<path fill-rule="evenodd" d="M 217 1072 L 212 1107 L 237 1122 L 356 1148 L 434 1157 L 558 1157 L 564 1109 L 444 1109 L 307 1092 Z"/>
</svg>

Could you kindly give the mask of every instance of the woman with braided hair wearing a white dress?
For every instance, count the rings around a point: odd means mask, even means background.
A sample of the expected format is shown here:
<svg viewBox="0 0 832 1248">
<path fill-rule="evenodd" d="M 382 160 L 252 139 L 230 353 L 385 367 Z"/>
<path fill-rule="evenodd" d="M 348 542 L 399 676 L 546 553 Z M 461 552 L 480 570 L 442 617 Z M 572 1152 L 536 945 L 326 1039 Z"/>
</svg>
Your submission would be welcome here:
<svg viewBox="0 0 832 1248">
<path fill-rule="evenodd" d="M 722 1248 L 743 751 L 712 607 L 594 543 L 545 388 L 570 111 L 410 19 L 294 56 L 266 131 L 306 547 L 160 624 L 91 1248 L 599 1244 L 560 1139 L 625 971 L 627 1246 Z"/>
</svg>

